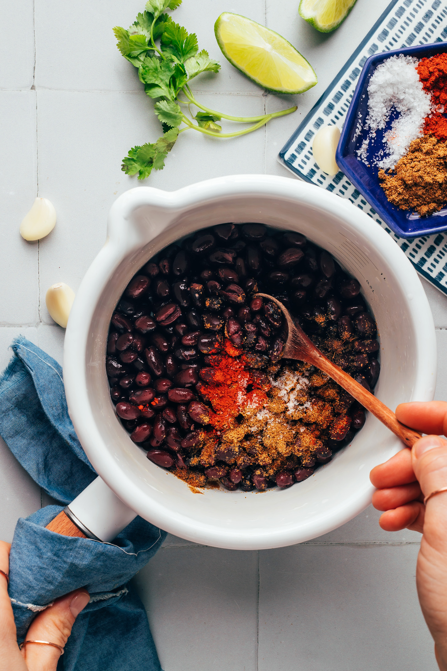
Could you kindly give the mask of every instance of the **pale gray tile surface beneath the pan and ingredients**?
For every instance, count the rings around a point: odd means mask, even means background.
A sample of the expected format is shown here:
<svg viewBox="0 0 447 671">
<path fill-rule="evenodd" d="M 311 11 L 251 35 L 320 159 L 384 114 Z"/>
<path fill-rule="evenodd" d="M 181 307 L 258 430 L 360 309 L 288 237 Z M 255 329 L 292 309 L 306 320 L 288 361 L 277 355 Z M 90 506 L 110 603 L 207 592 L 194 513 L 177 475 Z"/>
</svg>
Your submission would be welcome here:
<svg viewBox="0 0 447 671">
<path fill-rule="evenodd" d="M 171 191 L 232 173 L 293 178 L 277 153 L 386 4 L 359 2 L 339 30 L 323 35 L 298 17 L 296 0 L 283 0 L 281 11 L 273 0 L 184 0 L 175 20 L 222 64 L 220 74 L 194 83 L 205 105 L 235 115 L 294 104 L 298 111 L 229 141 L 184 133 L 166 168 L 141 183 L 121 172 L 121 159 L 135 144 L 157 138 L 160 127 L 111 29 L 127 28 L 144 1 L 0 0 L 0 367 L 19 333 L 62 363 L 64 331 L 46 311 L 46 289 L 64 281 L 76 291 L 123 191 L 141 185 Z M 286 97 L 245 79 L 214 40 L 222 11 L 283 34 L 310 60 L 318 85 Z M 54 36 L 68 30 L 76 36 L 70 58 L 55 58 Z M 29 244 L 18 227 L 36 196 L 52 200 L 58 221 L 40 244 Z M 438 340 L 436 398 L 447 400 L 447 297 L 422 284 Z M 50 502 L 0 442 L 0 537 L 10 540 L 19 516 Z M 420 537 L 385 533 L 378 518 L 370 507 L 302 546 L 260 553 L 169 535 L 135 578 L 165 671 L 434 671 L 414 587 Z"/>
</svg>

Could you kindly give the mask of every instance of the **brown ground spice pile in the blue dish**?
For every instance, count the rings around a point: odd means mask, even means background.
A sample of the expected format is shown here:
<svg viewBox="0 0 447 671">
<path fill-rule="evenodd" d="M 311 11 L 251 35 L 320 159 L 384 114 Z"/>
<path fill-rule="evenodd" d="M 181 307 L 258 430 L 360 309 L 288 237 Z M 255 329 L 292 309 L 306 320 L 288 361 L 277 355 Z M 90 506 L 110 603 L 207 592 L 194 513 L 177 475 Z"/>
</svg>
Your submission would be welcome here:
<svg viewBox="0 0 447 671">
<path fill-rule="evenodd" d="M 430 215 L 447 201 L 447 147 L 433 136 L 413 140 L 389 174 L 379 170 L 387 199 L 400 209 Z"/>
</svg>

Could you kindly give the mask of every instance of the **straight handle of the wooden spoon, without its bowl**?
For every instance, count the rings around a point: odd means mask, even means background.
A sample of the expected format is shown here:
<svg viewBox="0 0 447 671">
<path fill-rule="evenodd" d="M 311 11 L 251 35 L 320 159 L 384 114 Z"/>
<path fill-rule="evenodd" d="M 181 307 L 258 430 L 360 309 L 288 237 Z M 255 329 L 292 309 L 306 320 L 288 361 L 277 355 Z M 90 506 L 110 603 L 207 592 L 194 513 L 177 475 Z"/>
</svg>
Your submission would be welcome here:
<svg viewBox="0 0 447 671">
<path fill-rule="evenodd" d="M 407 448 L 413 447 L 416 441 L 422 438 L 422 435 L 418 433 L 418 431 L 409 429 L 409 427 L 397 421 L 397 417 L 389 407 L 382 403 L 382 401 L 379 401 L 379 399 L 371 394 L 371 392 L 367 391 L 364 386 L 357 382 L 357 380 L 354 380 L 350 375 L 344 372 L 344 370 L 341 370 L 341 368 L 335 366 L 329 359 L 326 359 L 325 356 L 320 353 L 312 353 L 312 359 L 313 360 L 310 363 L 328 374 L 328 376 L 330 376 L 332 380 L 335 380 L 337 384 L 340 384 L 340 386 L 353 396 L 356 401 L 359 401 L 363 407 L 385 424 L 390 431 L 393 431 L 393 433 L 405 443 Z"/>
</svg>

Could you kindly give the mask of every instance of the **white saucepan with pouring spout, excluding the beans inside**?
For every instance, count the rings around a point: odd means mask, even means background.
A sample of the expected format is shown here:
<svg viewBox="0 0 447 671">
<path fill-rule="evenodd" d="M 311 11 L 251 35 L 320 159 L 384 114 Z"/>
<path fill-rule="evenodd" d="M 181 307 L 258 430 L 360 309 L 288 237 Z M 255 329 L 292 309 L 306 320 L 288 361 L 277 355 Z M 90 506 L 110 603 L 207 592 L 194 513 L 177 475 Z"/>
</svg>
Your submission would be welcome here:
<svg viewBox="0 0 447 671">
<path fill-rule="evenodd" d="M 127 283 L 159 250 L 196 229 L 256 221 L 300 231 L 361 283 L 377 320 L 377 397 L 395 409 L 428 401 L 436 386 L 436 340 L 422 285 L 373 219 L 346 200 L 286 177 L 238 175 L 168 193 L 140 187 L 113 205 L 107 240 L 86 272 L 66 329 L 64 383 L 74 428 L 99 473 L 68 507 L 87 535 L 111 540 L 141 515 L 175 535 L 237 550 L 277 548 L 320 536 L 369 503 L 369 472 L 403 445 L 369 415 L 353 442 L 314 476 L 265 493 L 192 493 L 147 460 L 115 416 L 105 372 L 109 321 Z"/>
</svg>

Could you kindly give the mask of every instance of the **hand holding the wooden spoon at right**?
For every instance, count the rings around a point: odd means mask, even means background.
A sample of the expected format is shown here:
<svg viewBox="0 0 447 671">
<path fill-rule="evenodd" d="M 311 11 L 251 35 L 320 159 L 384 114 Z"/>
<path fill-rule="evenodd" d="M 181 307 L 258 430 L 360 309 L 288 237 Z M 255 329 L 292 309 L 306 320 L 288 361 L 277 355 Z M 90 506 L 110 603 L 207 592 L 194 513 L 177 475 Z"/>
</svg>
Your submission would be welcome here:
<svg viewBox="0 0 447 671">
<path fill-rule="evenodd" d="M 447 491 L 427 501 L 424 497 L 447 487 L 447 403 L 402 403 L 399 421 L 426 435 L 385 464 L 373 468 L 377 491 L 373 506 L 385 511 L 379 524 L 385 531 L 413 529 L 422 533 L 416 566 L 416 586 L 441 671 L 447 671 Z"/>
</svg>

